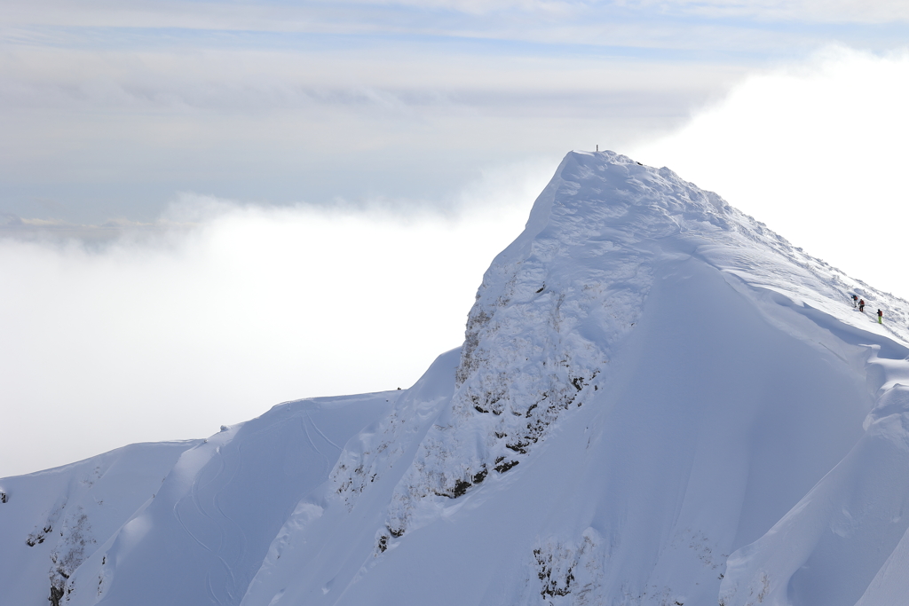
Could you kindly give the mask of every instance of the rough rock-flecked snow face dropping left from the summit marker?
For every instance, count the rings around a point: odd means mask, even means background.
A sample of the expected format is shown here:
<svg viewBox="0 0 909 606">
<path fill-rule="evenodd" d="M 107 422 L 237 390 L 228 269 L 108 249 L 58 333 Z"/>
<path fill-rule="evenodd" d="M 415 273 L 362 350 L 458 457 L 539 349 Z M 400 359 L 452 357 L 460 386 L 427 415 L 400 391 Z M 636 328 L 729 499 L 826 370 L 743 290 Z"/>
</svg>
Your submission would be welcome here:
<svg viewBox="0 0 909 606">
<path fill-rule="evenodd" d="M 433 427 L 395 492 L 388 520 L 395 535 L 416 501 L 459 496 L 488 473 L 514 468 L 561 412 L 598 389 L 595 379 L 634 326 L 653 279 L 653 253 L 634 243 L 678 229 L 654 207 L 681 185 L 694 194 L 700 219 L 716 214 L 705 194 L 674 174 L 610 157 L 612 164 L 601 164 L 569 154 L 527 229 L 484 276 L 467 319 L 451 418 Z M 629 183 L 637 187 L 617 186 Z M 613 204 L 602 204 L 607 196 Z"/>
</svg>

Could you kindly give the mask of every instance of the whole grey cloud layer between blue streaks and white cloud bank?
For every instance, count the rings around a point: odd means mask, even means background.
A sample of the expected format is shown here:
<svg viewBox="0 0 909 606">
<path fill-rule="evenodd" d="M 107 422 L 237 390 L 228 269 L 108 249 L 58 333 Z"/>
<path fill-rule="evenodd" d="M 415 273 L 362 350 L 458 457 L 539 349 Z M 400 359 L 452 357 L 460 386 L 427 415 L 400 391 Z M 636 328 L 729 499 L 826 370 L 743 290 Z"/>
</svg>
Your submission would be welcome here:
<svg viewBox="0 0 909 606">
<path fill-rule="evenodd" d="M 0 212 L 148 222 L 174 191 L 445 204 L 484 167 L 681 124 L 734 65 L 17 47 L 0 63 Z M 33 204 L 33 200 L 51 204 Z"/>
</svg>

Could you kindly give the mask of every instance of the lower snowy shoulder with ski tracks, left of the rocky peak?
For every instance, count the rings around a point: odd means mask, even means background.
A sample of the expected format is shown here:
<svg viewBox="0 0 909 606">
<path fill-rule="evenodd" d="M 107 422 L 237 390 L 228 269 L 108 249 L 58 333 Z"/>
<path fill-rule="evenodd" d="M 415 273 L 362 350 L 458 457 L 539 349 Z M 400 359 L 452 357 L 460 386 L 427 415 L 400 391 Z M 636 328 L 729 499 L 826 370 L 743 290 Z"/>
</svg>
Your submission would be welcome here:
<svg viewBox="0 0 909 606">
<path fill-rule="evenodd" d="M 237 603 L 296 502 L 401 393 L 285 402 L 208 440 L 0 480 L 0 603 Z"/>
</svg>

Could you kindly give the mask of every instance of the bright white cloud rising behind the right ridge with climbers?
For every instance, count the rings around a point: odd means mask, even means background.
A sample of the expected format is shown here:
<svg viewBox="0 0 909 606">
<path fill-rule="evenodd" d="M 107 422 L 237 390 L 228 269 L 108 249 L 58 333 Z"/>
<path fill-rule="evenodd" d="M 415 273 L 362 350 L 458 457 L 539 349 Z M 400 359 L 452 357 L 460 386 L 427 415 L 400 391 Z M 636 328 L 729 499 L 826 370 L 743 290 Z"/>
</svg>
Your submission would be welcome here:
<svg viewBox="0 0 909 606">
<path fill-rule="evenodd" d="M 909 55 L 843 48 L 754 75 L 635 157 L 714 190 L 808 253 L 909 297 Z"/>
</svg>

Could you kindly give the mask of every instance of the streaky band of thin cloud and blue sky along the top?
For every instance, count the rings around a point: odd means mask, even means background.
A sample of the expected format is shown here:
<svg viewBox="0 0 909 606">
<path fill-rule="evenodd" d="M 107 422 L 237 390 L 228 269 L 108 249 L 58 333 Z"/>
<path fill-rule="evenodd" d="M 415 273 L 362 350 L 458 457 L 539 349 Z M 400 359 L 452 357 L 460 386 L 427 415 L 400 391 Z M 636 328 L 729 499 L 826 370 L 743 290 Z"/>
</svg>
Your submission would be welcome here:
<svg viewBox="0 0 909 606">
<path fill-rule="evenodd" d="M 408 44 L 484 55 L 612 55 L 755 65 L 841 42 L 901 45 L 904 3 L 869 2 L 12 2 L 0 41 L 78 49 L 282 48 L 336 52 Z M 482 49 L 480 49 L 482 47 Z"/>
</svg>

